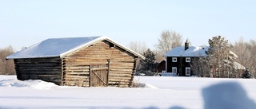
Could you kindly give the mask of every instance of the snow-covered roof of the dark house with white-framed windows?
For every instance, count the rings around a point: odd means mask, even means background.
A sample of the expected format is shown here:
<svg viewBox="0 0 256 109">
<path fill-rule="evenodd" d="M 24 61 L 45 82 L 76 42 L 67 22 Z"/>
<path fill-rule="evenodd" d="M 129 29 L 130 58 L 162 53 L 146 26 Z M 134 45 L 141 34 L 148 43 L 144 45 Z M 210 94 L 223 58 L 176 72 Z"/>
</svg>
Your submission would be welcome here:
<svg viewBox="0 0 256 109">
<path fill-rule="evenodd" d="M 171 49 L 165 56 L 206 56 L 209 46 L 190 46 L 185 50 L 184 46 Z"/>
</svg>

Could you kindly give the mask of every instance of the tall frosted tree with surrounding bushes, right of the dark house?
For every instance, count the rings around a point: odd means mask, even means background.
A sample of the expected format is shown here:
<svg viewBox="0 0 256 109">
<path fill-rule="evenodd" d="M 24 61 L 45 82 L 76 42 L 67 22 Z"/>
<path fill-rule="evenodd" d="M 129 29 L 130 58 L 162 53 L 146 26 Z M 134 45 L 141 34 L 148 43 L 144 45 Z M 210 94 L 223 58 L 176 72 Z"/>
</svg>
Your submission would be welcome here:
<svg viewBox="0 0 256 109">
<path fill-rule="evenodd" d="M 191 68 L 196 76 L 218 78 L 242 78 L 246 68 L 236 62 L 238 56 L 224 37 L 210 39 L 206 56 L 192 60 Z"/>
</svg>

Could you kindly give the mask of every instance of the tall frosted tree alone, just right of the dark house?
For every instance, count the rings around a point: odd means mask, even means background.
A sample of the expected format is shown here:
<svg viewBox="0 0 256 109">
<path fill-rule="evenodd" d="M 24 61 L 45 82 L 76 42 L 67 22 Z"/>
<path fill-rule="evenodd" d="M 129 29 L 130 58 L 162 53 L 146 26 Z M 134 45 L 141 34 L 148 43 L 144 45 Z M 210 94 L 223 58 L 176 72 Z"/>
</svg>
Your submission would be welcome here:
<svg viewBox="0 0 256 109">
<path fill-rule="evenodd" d="M 210 48 L 206 51 L 207 56 L 203 59 L 205 65 L 210 68 L 209 76 L 213 77 L 235 77 L 234 58 L 231 52 L 232 45 L 221 36 L 209 39 Z"/>
</svg>

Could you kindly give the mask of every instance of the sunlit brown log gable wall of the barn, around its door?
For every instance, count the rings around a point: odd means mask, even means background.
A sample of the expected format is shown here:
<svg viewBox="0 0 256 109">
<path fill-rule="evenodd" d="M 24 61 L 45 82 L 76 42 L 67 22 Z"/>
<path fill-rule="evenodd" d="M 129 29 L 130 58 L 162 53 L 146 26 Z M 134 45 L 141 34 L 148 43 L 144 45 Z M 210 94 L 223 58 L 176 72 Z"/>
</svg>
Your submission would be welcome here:
<svg viewBox="0 0 256 109">
<path fill-rule="evenodd" d="M 108 86 L 130 87 L 138 57 L 107 41 L 100 41 L 90 47 L 63 56 L 62 84 L 89 87 L 89 66 L 108 64 L 107 59 L 110 59 Z"/>
</svg>

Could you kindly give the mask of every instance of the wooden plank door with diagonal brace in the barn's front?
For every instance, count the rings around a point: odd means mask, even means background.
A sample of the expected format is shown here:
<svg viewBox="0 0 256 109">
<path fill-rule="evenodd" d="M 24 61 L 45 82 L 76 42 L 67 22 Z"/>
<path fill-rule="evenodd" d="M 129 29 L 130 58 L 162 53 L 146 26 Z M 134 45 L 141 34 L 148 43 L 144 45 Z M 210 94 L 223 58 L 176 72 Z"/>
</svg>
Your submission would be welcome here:
<svg viewBox="0 0 256 109">
<path fill-rule="evenodd" d="M 109 65 L 90 66 L 90 87 L 106 87 L 109 80 Z"/>
</svg>

